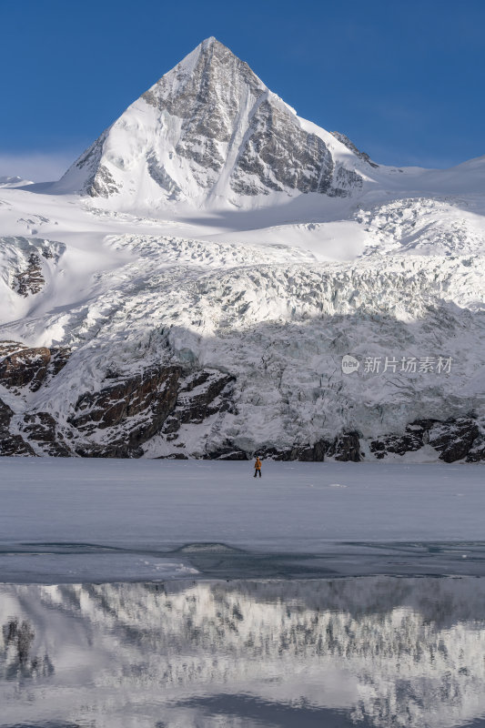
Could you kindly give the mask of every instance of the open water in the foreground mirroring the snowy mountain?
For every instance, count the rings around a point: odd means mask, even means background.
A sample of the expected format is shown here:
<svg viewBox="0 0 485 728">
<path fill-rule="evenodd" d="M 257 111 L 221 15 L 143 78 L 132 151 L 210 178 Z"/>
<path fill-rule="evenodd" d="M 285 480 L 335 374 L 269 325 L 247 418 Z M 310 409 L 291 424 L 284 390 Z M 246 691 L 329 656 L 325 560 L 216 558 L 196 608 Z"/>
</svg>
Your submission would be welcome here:
<svg viewBox="0 0 485 728">
<path fill-rule="evenodd" d="M 0 726 L 485 726 L 485 579 L 0 586 Z"/>
</svg>

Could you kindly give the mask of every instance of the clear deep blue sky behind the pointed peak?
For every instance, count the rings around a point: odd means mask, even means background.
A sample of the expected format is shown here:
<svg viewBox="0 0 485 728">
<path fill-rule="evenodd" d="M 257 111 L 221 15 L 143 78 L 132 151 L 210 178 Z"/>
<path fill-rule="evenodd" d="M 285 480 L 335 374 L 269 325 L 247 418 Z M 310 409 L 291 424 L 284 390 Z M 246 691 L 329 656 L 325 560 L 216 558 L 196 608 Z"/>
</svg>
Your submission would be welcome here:
<svg viewBox="0 0 485 728">
<path fill-rule="evenodd" d="M 485 154 L 485 0 L 0 0 L 0 175 L 58 177 L 215 35 L 384 164 Z"/>
</svg>

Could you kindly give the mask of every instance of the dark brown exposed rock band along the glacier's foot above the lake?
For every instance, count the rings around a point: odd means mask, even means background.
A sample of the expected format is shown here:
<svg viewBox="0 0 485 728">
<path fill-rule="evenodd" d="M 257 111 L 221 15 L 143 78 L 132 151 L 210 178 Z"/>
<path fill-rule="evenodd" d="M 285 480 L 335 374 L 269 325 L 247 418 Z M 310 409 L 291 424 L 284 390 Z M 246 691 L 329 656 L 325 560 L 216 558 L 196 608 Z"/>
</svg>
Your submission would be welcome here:
<svg viewBox="0 0 485 728">
<path fill-rule="evenodd" d="M 61 376 L 69 349 L 28 348 L 13 341 L 0 342 L 0 385 L 15 399 L 25 399 L 48 379 Z M 151 366 L 126 376 L 106 372 L 104 386 L 86 392 L 71 403 L 66 421 L 46 411 L 27 410 L 15 418 L 14 410 L 0 399 L 0 455 L 49 455 L 53 457 L 138 458 L 144 445 L 157 436 L 175 459 L 188 457 L 214 460 L 249 460 L 254 450 L 244 450 L 231 440 L 211 449 L 190 450 L 190 441 L 180 437 L 184 427 L 217 427 L 227 413 L 237 412 L 234 400 L 236 378 L 217 370 L 183 366 Z M 258 448 L 263 459 L 359 462 L 405 455 L 426 445 L 440 460 L 478 462 L 485 460 L 485 437 L 474 417 L 449 420 L 415 420 L 402 434 L 391 433 L 367 442 L 362 433 L 340 431 L 332 440 L 295 443 L 288 449 L 277 445 Z"/>
</svg>

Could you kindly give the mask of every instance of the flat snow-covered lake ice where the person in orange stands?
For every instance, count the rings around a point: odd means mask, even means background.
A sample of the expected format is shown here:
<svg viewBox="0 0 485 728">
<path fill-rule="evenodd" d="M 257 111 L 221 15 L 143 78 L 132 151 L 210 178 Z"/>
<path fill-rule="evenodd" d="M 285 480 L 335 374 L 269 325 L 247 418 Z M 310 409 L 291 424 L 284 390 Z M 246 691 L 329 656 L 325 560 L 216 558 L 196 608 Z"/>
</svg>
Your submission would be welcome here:
<svg viewBox="0 0 485 728">
<path fill-rule="evenodd" d="M 0 459 L 0 581 L 485 575 L 480 465 Z"/>
</svg>

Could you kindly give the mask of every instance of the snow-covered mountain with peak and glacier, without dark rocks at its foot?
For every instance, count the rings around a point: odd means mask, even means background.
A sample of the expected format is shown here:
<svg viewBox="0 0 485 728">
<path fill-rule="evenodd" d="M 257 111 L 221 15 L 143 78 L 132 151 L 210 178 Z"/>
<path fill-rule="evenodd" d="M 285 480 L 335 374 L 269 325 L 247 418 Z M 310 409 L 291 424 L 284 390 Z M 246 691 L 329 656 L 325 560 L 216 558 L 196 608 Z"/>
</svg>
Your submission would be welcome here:
<svg viewBox="0 0 485 728">
<path fill-rule="evenodd" d="M 0 383 L 11 430 L 46 412 L 67 431 L 114 371 L 180 366 L 234 378 L 230 411 L 160 430 L 149 457 L 357 431 L 373 458 L 369 443 L 429 418 L 473 420 L 480 449 L 484 193 L 485 157 L 376 165 L 207 39 L 59 182 L 0 190 L 0 339 L 72 350 L 36 391 Z"/>
</svg>

